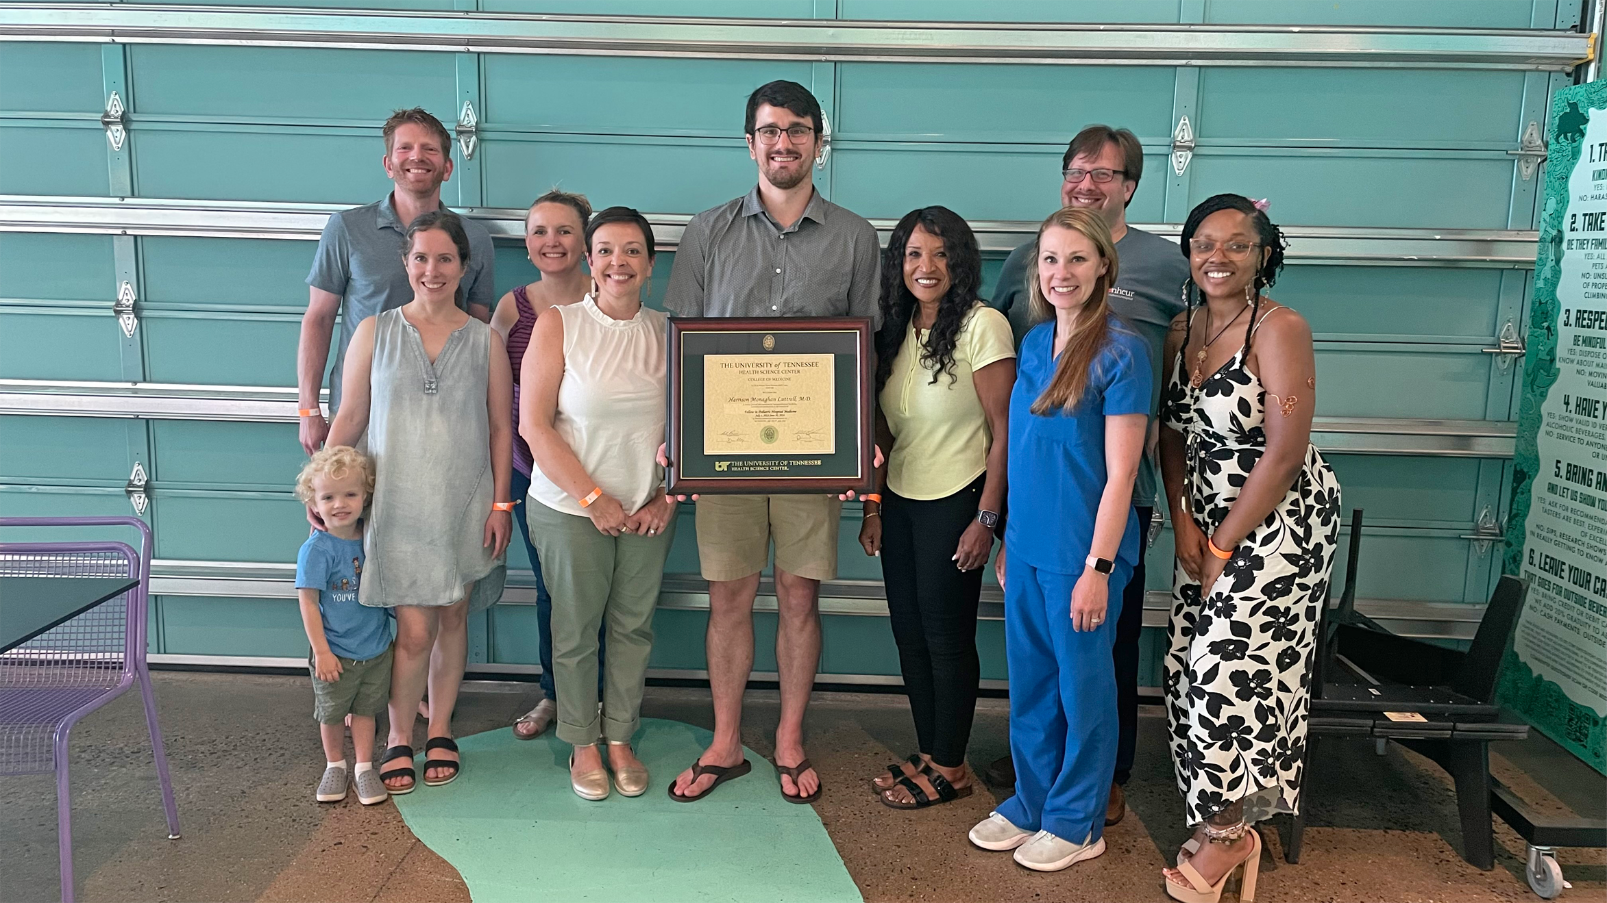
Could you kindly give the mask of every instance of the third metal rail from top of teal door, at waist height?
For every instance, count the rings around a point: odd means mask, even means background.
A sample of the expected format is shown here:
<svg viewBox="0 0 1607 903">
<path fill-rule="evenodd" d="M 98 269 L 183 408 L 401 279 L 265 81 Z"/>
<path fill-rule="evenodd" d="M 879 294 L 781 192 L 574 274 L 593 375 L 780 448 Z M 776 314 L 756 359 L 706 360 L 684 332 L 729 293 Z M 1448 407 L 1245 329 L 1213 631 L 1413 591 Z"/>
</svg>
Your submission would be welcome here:
<svg viewBox="0 0 1607 903">
<path fill-rule="evenodd" d="M 0 379 L 0 415 L 296 423 L 296 389 Z M 1511 458 L 1511 421 L 1315 418 L 1311 442 L 1345 455 Z"/>
</svg>

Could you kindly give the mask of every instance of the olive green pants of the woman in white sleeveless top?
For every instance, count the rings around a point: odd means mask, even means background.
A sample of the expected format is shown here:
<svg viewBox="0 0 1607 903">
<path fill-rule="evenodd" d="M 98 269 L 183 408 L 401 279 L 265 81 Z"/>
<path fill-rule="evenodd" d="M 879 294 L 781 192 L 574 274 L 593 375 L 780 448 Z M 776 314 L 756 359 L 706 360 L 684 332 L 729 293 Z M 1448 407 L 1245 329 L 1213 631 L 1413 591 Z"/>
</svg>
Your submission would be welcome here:
<svg viewBox="0 0 1607 903">
<path fill-rule="evenodd" d="M 609 537 L 599 533 L 590 517 L 530 501 L 525 522 L 542 559 L 542 580 L 553 596 L 558 739 L 575 746 L 595 744 L 599 738 L 630 742 L 641 721 L 652 612 L 659 604 L 675 521 L 659 537 Z M 601 713 L 599 627 L 607 631 Z"/>
</svg>

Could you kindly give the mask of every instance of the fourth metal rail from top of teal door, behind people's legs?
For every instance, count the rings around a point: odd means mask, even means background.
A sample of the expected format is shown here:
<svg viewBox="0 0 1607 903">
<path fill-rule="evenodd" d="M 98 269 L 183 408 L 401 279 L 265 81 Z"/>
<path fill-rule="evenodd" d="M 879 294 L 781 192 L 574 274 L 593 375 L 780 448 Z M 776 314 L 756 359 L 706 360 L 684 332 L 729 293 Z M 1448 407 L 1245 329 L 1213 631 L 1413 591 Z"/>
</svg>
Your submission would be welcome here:
<svg viewBox="0 0 1607 903">
<path fill-rule="evenodd" d="M 296 566 L 156 559 L 151 562 L 151 595 L 294 599 Z M 529 570 L 511 570 L 501 604 L 534 606 L 535 575 Z M 696 574 L 665 574 L 659 607 L 709 611 L 709 583 Z M 771 580 L 760 582 L 754 609 L 776 611 L 776 590 Z M 1170 593 L 1152 590 L 1144 595 L 1144 627 L 1167 627 L 1170 611 Z M 1356 611 L 1400 636 L 1433 639 L 1472 639 L 1483 617 L 1482 604 L 1413 599 L 1356 599 Z M 820 586 L 820 612 L 887 617 L 887 596 L 879 580 L 826 580 Z M 982 590 L 977 617 L 1004 619 L 1004 596 L 998 586 Z"/>
</svg>

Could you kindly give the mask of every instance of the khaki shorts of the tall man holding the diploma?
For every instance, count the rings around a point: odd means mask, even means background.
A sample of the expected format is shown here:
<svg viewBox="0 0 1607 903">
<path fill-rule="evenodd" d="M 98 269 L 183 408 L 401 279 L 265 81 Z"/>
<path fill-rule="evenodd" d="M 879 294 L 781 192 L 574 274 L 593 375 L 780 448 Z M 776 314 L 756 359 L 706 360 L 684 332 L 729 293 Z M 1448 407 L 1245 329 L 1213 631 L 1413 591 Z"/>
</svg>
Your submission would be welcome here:
<svg viewBox="0 0 1607 903">
<path fill-rule="evenodd" d="M 776 567 L 797 577 L 837 577 L 842 501 L 828 495 L 705 495 L 697 500 L 697 561 L 704 580 L 741 580 Z"/>
</svg>

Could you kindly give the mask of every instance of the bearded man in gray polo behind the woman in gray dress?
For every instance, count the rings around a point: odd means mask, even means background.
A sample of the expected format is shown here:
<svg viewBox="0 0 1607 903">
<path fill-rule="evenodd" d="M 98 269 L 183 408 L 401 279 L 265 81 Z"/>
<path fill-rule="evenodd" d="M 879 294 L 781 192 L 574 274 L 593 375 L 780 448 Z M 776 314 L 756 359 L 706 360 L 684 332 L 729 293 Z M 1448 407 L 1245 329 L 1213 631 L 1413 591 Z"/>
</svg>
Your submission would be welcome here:
<svg viewBox="0 0 1607 903">
<path fill-rule="evenodd" d="M 334 315 L 341 315 L 341 339 L 329 373 L 331 418 L 341 407 L 341 365 L 357 325 L 413 300 L 402 264 L 402 239 L 419 214 L 440 209 L 440 183 L 452 178 L 452 137 L 424 109 L 415 106 L 392 112 L 384 138 L 386 175 L 395 190 L 381 201 L 331 215 L 307 275 L 310 299 L 296 345 L 296 397 L 302 411 L 312 411 L 301 418 L 301 443 L 309 455 L 329 434 L 329 421 L 318 410 L 318 392 L 329 362 Z M 469 219 L 463 220 L 463 231 L 469 236 L 469 260 L 458 305 L 471 317 L 490 321 L 497 300 L 492 235 Z"/>
</svg>

